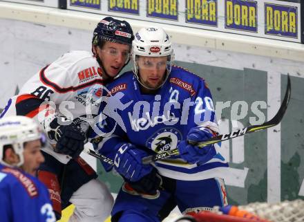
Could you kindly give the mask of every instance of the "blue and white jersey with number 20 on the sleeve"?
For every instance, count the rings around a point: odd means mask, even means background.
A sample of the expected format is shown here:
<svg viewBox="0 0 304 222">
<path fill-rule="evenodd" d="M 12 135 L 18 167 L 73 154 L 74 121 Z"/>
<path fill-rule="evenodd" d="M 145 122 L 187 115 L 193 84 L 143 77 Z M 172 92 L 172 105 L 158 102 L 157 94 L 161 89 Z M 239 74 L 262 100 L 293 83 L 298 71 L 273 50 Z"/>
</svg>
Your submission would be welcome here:
<svg viewBox="0 0 304 222">
<path fill-rule="evenodd" d="M 102 103 L 103 118 L 98 131 L 110 135 L 95 149 L 114 159 L 118 142 L 127 141 L 151 152 L 175 149 L 187 138 L 192 127 L 209 127 L 218 131 L 211 93 L 205 80 L 173 66 L 168 80 L 153 95 L 143 94 L 132 72 L 127 72 L 107 86 L 108 100 Z M 223 178 L 228 165 L 215 145 L 217 155 L 204 165 L 186 163 L 180 156 L 172 156 L 155 163 L 163 176 L 184 181 Z M 106 170 L 111 166 L 103 163 Z"/>
</svg>

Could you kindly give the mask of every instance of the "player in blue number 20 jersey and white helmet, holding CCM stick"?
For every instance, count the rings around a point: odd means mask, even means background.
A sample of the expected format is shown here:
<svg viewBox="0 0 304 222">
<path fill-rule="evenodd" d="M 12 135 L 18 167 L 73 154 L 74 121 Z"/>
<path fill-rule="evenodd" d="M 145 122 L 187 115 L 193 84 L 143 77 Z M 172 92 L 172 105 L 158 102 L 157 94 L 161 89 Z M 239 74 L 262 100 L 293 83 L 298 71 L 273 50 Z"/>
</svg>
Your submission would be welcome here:
<svg viewBox="0 0 304 222">
<path fill-rule="evenodd" d="M 96 139 L 95 150 L 114 160 L 102 164 L 125 181 L 111 220 L 162 221 L 176 205 L 183 214 L 227 205 L 222 178 L 228 165 L 220 146 L 199 149 L 187 142 L 218 133 L 205 80 L 172 66 L 171 39 L 162 28 L 135 34 L 132 61 L 133 72 L 108 85 L 111 97 L 102 102 L 95 128 L 108 136 Z M 176 147 L 178 156 L 142 164 L 142 158 Z"/>
</svg>

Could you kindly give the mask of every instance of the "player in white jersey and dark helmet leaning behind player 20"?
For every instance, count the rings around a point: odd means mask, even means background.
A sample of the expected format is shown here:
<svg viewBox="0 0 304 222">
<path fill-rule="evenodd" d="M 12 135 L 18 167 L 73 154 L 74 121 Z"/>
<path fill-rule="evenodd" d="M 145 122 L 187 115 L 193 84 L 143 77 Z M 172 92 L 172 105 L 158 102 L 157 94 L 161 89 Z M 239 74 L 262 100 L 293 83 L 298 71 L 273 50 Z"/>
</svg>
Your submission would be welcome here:
<svg viewBox="0 0 304 222">
<path fill-rule="evenodd" d="M 44 127 L 50 145 L 42 149 L 46 161 L 38 177 L 48 187 L 57 219 L 70 203 L 75 205 L 70 221 L 100 222 L 110 215 L 111 193 L 79 154 L 103 85 L 129 62 L 133 39 L 128 22 L 102 19 L 93 33 L 93 54 L 71 51 L 42 68 L 1 114 L 26 115 Z"/>
</svg>

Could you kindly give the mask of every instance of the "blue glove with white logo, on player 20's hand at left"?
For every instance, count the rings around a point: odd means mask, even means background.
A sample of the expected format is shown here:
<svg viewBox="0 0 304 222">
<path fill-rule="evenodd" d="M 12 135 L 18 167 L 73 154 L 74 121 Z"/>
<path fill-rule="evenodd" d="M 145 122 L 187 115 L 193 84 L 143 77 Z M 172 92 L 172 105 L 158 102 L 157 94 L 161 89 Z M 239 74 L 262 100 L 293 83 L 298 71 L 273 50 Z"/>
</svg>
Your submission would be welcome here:
<svg viewBox="0 0 304 222">
<path fill-rule="evenodd" d="M 127 180 L 139 181 L 153 169 L 151 165 L 142 164 L 142 158 L 145 156 L 148 156 L 145 151 L 138 149 L 131 143 L 120 144 L 120 149 L 118 149 L 114 159 L 114 168 Z"/>
</svg>

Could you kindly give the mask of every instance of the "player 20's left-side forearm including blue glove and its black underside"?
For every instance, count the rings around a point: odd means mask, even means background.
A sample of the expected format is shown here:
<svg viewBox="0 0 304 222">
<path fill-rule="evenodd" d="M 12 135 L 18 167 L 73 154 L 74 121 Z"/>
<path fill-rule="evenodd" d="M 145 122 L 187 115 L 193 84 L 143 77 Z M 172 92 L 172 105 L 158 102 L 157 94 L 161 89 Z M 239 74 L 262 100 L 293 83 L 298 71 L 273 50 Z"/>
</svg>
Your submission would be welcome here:
<svg viewBox="0 0 304 222">
<path fill-rule="evenodd" d="M 101 107 L 101 110 L 103 108 Z M 102 114 L 99 113 L 99 115 Z M 95 139 L 91 142 L 95 151 L 111 158 L 114 162 L 114 165 L 109 165 L 102 161 L 106 171 L 115 169 L 137 192 L 155 195 L 161 179 L 151 165 L 142 164 L 142 158 L 149 156 L 147 151 L 129 142 L 126 132 L 113 118 L 106 117 L 93 129 L 95 130 L 91 136 L 95 136 Z M 104 134 L 107 136 L 103 137 Z"/>
</svg>

